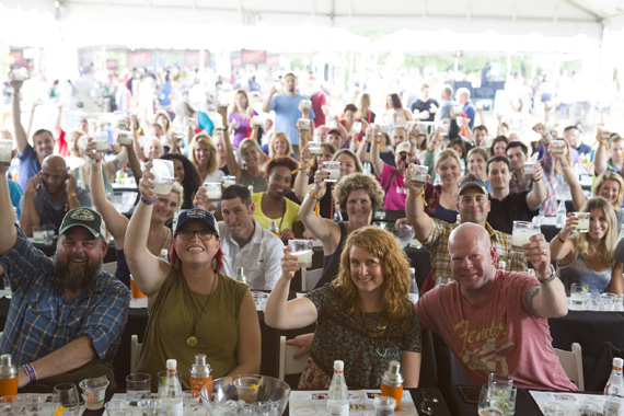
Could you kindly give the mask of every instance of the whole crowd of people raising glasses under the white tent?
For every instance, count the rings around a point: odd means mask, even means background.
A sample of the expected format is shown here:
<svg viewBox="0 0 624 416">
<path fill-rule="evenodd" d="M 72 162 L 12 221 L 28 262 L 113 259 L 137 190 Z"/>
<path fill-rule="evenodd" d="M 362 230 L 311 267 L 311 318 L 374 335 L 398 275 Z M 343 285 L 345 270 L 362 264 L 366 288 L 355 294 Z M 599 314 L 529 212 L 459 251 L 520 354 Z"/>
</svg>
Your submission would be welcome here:
<svg viewBox="0 0 624 416">
<path fill-rule="evenodd" d="M 132 108 L 111 114 L 108 129 L 79 118 L 66 130 L 59 107 L 49 128 L 31 134 L 23 81 L 10 84 L 12 126 L 2 135 L 13 162 L 0 163 L 0 266 L 13 298 L 0 347 L 20 366 L 20 386 L 114 380 L 130 279 L 149 310 L 138 370 L 154 383 L 167 358 L 188 368 L 196 353 L 207 355 L 215 379 L 258 373 L 253 289 L 270 291 L 268 325 L 316 323 L 313 336 L 293 340 L 310 350 L 300 386 L 311 389 L 328 386 L 334 359 L 348 362 L 353 388 L 378 388 L 391 360 L 401 362 L 405 386 L 417 386 L 424 327 L 447 340 L 477 385 L 494 371 L 521 388 L 575 390 L 546 319 L 567 313 L 571 284 L 623 293 L 616 132 L 598 129 L 585 143 L 576 125 L 557 130 L 536 120 L 520 137 L 499 119 L 490 135 L 471 91 L 449 84 L 439 101 L 424 84 L 409 106 L 391 93 L 383 114 L 361 91 L 333 114 L 322 90 L 303 95 L 287 73 L 279 88 L 263 95 L 250 83 L 216 111 L 180 101 L 172 112 L 153 101 L 142 117 Z M 158 159 L 174 164 L 165 195 L 154 193 Z M 596 177 L 592 195 L 581 171 Z M 131 216 L 109 200 L 120 173 L 140 194 Z M 229 186 L 215 199 L 205 183 Z M 513 221 L 554 216 L 566 199 L 589 213 L 587 232 L 574 232 L 569 213 L 552 241 L 538 233 L 522 251 L 512 247 Z M 416 304 L 408 257 L 372 226 L 375 211 L 411 226 L 430 254 L 429 290 Z M 28 240 L 39 227 L 58 235 L 53 258 Z M 314 290 L 288 301 L 299 268 L 288 241 L 302 238 L 321 241 L 323 273 Z M 115 276 L 102 271 L 112 242 Z M 246 284 L 233 278 L 241 268 Z"/>
</svg>

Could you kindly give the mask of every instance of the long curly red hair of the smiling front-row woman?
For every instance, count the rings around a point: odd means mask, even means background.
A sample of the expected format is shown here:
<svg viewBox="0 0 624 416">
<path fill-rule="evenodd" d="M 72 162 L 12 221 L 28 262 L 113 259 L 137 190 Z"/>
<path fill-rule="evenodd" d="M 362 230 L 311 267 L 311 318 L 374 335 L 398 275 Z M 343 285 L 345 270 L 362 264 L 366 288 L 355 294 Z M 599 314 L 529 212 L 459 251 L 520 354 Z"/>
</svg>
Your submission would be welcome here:
<svg viewBox="0 0 624 416">
<path fill-rule="evenodd" d="M 383 273 L 381 302 L 388 320 L 394 323 L 408 316 L 414 305 L 407 298 L 412 284 L 407 255 L 391 233 L 371 226 L 351 232 L 345 242 L 338 276 L 332 282 L 339 293 L 343 311 L 354 316 L 361 310 L 358 289 L 351 278 L 351 249 L 355 245 L 380 261 Z"/>
</svg>

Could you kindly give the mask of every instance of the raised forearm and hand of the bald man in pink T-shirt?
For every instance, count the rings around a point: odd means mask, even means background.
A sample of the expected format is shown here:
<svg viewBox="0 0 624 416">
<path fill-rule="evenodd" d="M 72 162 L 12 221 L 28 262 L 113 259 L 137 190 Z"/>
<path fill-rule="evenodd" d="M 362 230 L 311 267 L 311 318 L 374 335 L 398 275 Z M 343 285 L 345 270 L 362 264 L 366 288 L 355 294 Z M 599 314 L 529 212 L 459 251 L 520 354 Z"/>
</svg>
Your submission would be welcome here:
<svg viewBox="0 0 624 416">
<path fill-rule="evenodd" d="M 555 238 L 556 240 L 556 238 Z M 568 313 L 568 301 L 564 284 L 551 266 L 551 251 L 543 234 L 531 235 L 522 246 L 524 256 L 533 264 L 540 285 L 527 290 L 527 309 L 538 317 L 558 317 Z"/>
</svg>

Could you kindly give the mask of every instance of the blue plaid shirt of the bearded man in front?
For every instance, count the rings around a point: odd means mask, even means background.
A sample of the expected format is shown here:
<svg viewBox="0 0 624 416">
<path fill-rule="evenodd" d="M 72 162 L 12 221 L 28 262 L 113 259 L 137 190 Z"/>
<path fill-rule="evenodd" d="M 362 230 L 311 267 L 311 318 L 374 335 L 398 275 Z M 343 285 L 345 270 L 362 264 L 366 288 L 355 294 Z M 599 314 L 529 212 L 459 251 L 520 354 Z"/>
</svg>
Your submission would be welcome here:
<svg viewBox="0 0 624 416">
<path fill-rule="evenodd" d="M 13 290 L 0 350 L 11 354 L 15 366 L 43 358 L 84 335 L 101 359 L 113 362 L 130 302 L 124 284 L 102 271 L 86 291 L 68 301 L 53 275 L 54 259 L 33 247 L 20 228 L 15 245 L 0 257 L 0 265 Z"/>
</svg>

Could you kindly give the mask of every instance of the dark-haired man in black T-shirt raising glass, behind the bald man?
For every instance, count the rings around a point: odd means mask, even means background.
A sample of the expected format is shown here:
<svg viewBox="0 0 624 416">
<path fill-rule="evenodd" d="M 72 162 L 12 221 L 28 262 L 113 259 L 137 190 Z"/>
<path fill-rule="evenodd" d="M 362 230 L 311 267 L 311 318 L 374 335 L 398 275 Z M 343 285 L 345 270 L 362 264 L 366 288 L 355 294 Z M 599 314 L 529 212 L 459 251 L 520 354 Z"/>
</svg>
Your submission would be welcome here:
<svg viewBox="0 0 624 416">
<path fill-rule="evenodd" d="M 477 148 L 475 148 L 477 149 Z M 494 157 L 487 161 L 487 174 L 492 184 L 490 209 L 487 222 L 493 229 L 511 234 L 513 221 L 532 221 L 540 213 L 540 206 L 546 199 L 546 187 L 542 181 L 542 165 L 535 163 L 531 176 L 533 189 L 511 194 L 511 165 L 505 157 Z"/>
</svg>

